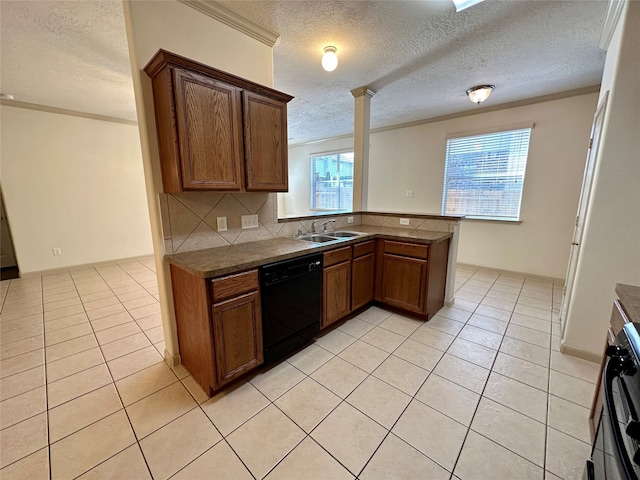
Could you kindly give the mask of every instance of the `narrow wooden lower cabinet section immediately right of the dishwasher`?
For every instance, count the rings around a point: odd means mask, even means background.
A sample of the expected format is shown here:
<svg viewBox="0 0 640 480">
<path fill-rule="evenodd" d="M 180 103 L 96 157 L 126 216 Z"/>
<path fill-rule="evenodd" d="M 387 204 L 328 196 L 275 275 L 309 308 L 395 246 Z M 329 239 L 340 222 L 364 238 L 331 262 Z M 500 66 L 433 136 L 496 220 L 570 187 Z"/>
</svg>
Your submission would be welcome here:
<svg viewBox="0 0 640 480">
<path fill-rule="evenodd" d="M 351 247 L 325 252 L 323 265 L 322 328 L 351 313 Z"/>
</svg>

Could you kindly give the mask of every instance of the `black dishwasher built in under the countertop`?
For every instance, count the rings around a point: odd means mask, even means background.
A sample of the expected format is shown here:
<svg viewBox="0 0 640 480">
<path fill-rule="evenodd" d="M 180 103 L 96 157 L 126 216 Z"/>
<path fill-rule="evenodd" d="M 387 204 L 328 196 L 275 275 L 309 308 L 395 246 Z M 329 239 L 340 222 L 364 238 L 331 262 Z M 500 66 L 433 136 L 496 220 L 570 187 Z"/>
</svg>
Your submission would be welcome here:
<svg viewBox="0 0 640 480">
<path fill-rule="evenodd" d="M 320 331 L 322 254 L 260 268 L 264 362 L 304 345 Z"/>
</svg>

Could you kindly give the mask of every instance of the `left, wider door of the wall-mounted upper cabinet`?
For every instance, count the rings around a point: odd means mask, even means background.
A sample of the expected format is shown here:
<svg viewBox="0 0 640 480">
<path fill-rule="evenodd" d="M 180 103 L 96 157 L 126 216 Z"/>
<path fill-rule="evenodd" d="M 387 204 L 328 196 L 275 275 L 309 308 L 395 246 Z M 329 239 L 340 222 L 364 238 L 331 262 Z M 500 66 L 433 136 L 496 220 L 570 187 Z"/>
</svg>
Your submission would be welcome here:
<svg viewBox="0 0 640 480">
<path fill-rule="evenodd" d="M 188 70 L 173 72 L 182 188 L 240 190 L 240 90 Z"/>
</svg>

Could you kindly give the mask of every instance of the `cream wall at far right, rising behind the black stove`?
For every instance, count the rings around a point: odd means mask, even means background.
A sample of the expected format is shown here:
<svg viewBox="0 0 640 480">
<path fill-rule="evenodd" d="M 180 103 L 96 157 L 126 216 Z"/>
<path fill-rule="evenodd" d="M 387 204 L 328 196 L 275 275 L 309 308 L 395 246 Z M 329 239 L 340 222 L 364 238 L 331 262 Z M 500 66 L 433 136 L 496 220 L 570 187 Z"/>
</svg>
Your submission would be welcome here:
<svg viewBox="0 0 640 480">
<path fill-rule="evenodd" d="M 601 355 L 615 284 L 640 285 L 640 2 L 626 3 L 607 50 L 608 107 L 563 347 Z"/>
</svg>

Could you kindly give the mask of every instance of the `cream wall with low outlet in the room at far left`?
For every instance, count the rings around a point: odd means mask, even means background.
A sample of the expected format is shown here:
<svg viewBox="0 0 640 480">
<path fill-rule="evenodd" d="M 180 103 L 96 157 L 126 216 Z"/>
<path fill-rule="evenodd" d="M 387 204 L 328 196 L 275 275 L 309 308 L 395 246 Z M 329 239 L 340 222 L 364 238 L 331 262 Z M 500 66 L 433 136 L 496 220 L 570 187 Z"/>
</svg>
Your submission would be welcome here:
<svg viewBox="0 0 640 480">
<path fill-rule="evenodd" d="M 1 109 L 2 189 L 22 273 L 152 253 L 136 126 Z"/>
</svg>

